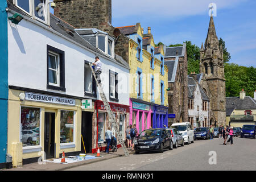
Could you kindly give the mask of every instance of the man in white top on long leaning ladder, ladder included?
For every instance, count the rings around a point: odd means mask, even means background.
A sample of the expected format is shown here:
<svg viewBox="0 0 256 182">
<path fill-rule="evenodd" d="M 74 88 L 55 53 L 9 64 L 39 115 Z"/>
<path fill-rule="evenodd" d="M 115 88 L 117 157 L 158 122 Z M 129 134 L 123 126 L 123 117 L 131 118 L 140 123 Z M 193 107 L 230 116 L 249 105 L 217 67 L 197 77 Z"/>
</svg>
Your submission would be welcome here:
<svg viewBox="0 0 256 182">
<path fill-rule="evenodd" d="M 95 66 L 95 72 L 92 68 L 92 65 Z M 105 93 L 101 87 L 101 80 L 100 80 L 100 74 L 101 74 L 101 61 L 99 59 L 98 56 L 95 57 L 95 62 L 90 64 L 90 69 L 92 70 L 92 73 L 93 73 L 93 76 L 95 78 L 95 81 L 96 81 L 96 84 L 98 86 L 98 89 L 99 89 L 99 92 L 100 92 L 100 95 L 101 95 L 101 99 L 104 103 L 104 106 L 105 106 L 105 109 L 106 111 L 108 111 L 108 115 L 109 115 L 109 122 L 112 123 L 112 126 L 114 127 L 115 131 L 117 132 L 117 139 L 119 140 L 119 143 L 121 144 L 122 148 L 123 148 L 123 151 L 125 152 L 125 155 L 126 156 L 129 156 L 129 152 L 125 146 L 125 143 L 123 142 L 123 139 L 122 139 L 122 135 L 119 133 L 119 125 L 118 123 L 115 121 L 115 117 L 114 117 L 114 114 L 110 108 L 110 105 L 109 105 L 109 102 L 105 96 Z"/>
</svg>

